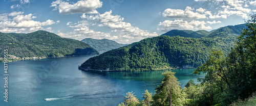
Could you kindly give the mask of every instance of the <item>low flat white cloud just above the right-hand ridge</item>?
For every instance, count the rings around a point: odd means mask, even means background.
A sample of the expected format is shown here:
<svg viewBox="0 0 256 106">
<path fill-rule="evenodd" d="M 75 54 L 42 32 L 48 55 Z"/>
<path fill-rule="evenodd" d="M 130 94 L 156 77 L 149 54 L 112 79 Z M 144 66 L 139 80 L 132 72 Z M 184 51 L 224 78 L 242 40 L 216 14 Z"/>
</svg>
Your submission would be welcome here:
<svg viewBox="0 0 256 106">
<path fill-rule="evenodd" d="M 205 26 L 205 21 L 192 20 L 190 22 L 183 19 L 175 19 L 174 21 L 165 20 L 158 24 L 158 30 L 167 32 L 170 30 L 207 30 L 210 26 Z"/>
</svg>

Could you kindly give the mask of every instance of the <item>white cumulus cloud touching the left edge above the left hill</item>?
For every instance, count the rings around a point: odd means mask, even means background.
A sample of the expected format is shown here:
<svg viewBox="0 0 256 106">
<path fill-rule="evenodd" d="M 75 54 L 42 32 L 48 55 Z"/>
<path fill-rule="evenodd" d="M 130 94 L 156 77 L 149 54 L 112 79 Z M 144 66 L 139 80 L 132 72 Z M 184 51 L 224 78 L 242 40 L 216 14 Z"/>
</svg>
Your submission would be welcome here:
<svg viewBox="0 0 256 106">
<path fill-rule="evenodd" d="M 34 18 L 36 17 L 33 16 L 33 14 L 23 15 L 23 12 L 0 14 L 0 32 L 29 33 L 37 30 L 44 30 L 42 26 L 48 26 L 56 23 L 55 21 L 50 19 L 43 22 L 34 21 Z"/>
</svg>

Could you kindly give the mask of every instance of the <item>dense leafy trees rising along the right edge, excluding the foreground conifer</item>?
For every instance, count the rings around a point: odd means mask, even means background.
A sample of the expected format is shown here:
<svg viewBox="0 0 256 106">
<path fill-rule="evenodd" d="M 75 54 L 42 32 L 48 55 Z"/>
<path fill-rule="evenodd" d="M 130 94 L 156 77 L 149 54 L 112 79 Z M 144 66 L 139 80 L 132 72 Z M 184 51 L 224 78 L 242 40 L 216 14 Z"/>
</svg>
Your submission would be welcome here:
<svg viewBox="0 0 256 106">
<path fill-rule="evenodd" d="M 194 73 L 206 73 L 200 81 L 209 83 L 204 93 L 212 104 L 228 105 L 237 99 L 244 100 L 256 91 L 256 15 L 251 15 L 246 29 L 238 37 L 237 44 L 225 57 L 221 50 L 212 50 L 210 58 Z M 207 90 L 208 89 L 208 90 Z M 210 91 L 210 92 L 206 92 Z M 216 99 L 216 98 L 219 99 Z M 204 99 L 204 100 L 206 100 Z"/>
</svg>

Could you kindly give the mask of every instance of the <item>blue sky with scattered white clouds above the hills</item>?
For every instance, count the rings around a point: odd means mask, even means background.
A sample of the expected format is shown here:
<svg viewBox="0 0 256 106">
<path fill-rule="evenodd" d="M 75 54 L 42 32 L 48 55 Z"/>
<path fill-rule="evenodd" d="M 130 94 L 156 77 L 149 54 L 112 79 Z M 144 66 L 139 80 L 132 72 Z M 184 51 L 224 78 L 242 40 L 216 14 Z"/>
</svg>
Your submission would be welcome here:
<svg viewBox="0 0 256 106">
<path fill-rule="evenodd" d="M 2 0 L 0 32 L 45 30 L 64 38 L 133 43 L 170 30 L 245 23 L 256 0 Z"/>
</svg>

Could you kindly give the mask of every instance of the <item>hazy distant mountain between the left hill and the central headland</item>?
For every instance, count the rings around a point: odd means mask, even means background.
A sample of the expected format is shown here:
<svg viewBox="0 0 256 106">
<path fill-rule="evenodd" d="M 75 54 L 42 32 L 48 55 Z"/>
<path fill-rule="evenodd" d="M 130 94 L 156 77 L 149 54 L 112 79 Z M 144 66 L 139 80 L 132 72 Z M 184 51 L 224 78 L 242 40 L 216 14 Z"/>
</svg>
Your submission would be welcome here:
<svg viewBox="0 0 256 106">
<path fill-rule="evenodd" d="M 109 39 L 92 39 L 92 38 L 86 38 L 81 40 L 84 43 L 89 44 L 97 51 L 109 51 L 112 49 L 116 49 L 122 46 L 126 46 L 128 44 L 119 44 L 116 41 L 109 40 Z"/>
</svg>

